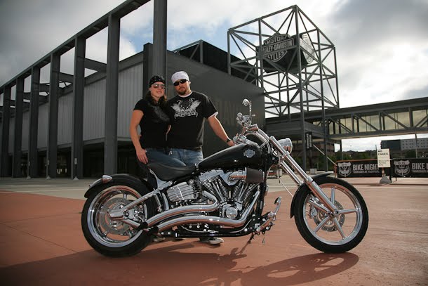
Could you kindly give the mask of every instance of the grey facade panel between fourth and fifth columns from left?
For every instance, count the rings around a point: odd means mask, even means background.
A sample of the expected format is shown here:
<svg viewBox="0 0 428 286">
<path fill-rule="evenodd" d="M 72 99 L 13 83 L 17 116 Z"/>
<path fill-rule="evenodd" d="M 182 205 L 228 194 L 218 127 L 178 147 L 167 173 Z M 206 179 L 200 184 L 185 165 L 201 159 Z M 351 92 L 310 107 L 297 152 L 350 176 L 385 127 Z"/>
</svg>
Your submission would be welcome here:
<svg viewBox="0 0 428 286">
<path fill-rule="evenodd" d="M 58 145 L 72 143 L 73 93 L 58 98 Z"/>
</svg>

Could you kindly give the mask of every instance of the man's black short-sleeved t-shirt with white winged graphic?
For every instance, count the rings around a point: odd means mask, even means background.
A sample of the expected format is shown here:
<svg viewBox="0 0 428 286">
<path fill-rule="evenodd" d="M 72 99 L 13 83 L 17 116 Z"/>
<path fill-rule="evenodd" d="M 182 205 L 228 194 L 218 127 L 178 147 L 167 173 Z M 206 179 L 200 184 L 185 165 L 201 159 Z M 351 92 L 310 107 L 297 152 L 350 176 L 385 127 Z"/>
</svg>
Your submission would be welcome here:
<svg viewBox="0 0 428 286">
<path fill-rule="evenodd" d="M 166 105 L 171 124 L 168 147 L 202 150 L 204 119 L 218 113 L 208 96 L 192 91 L 189 96 L 171 98 Z"/>
</svg>

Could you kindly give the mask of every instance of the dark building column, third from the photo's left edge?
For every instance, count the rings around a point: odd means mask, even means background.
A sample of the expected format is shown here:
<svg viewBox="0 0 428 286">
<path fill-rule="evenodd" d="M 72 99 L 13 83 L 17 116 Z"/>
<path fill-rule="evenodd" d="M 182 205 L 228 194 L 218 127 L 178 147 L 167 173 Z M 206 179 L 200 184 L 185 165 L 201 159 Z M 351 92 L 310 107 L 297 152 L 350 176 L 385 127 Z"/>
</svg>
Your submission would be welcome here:
<svg viewBox="0 0 428 286">
<path fill-rule="evenodd" d="M 32 67 L 31 91 L 29 99 L 29 131 L 28 131 L 28 162 L 27 178 L 39 176 L 37 154 L 37 134 L 39 131 L 39 96 L 40 96 L 40 67 Z"/>
</svg>

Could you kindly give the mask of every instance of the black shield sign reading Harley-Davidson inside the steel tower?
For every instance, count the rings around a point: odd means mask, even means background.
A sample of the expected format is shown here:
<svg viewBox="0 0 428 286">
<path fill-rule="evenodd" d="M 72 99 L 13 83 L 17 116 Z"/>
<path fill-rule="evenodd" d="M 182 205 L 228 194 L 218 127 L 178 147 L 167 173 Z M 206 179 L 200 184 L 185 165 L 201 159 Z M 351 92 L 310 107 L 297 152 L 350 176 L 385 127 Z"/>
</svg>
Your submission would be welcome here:
<svg viewBox="0 0 428 286">
<path fill-rule="evenodd" d="M 312 43 L 307 34 L 301 34 L 299 39 L 303 68 L 312 63 L 314 48 L 312 48 Z M 274 72 L 279 69 L 294 71 L 297 68 L 295 48 L 297 48 L 295 35 L 276 33 L 269 39 L 265 39 L 262 45 L 263 69 L 265 72 Z M 260 52 L 260 47 L 257 48 L 257 52 Z"/>
</svg>

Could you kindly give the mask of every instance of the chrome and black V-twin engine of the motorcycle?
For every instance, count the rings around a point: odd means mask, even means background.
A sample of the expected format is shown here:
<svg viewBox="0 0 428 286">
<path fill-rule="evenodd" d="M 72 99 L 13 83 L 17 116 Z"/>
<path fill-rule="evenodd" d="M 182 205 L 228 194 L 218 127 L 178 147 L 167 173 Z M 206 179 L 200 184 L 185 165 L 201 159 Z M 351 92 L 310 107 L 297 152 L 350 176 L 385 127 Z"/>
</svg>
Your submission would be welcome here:
<svg viewBox="0 0 428 286">
<path fill-rule="evenodd" d="M 202 192 L 217 197 L 220 209 L 216 216 L 239 219 L 248 206 L 253 194 L 264 180 L 264 172 L 255 169 L 229 171 L 212 170 L 199 177 L 178 183 L 166 190 L 171 207 L 187 204 L 208 204 Z"/>
</svg>

